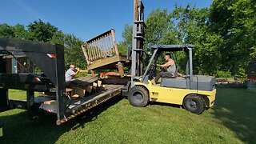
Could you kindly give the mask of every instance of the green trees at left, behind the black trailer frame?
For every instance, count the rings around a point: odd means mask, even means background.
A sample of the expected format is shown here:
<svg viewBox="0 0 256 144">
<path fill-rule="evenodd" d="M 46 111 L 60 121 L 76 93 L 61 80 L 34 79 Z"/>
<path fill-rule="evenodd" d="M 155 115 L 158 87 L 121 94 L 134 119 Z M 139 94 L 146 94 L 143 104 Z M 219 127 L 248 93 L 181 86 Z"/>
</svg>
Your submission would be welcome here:
<svg viewBox="0 0 256 144">
<path fill-rule="evenodd" d="M 81 48 L 84 42 L 80 38 L 75 37 L 74 34 L 63 34 L 56 26 L 50 25 L 50 22 L 42 22 L 39 19 L 38 21 L 30 22 L 27 29 L 21 24 L 15 26 L 9 26 L 6 23 L 0 24 L 0 38 L 17 38 L 61 44 L 65 47 L 64 58 L 66 68 L 70 64 L 79 66 L 81 69 L 86 67 L 86 58 Z"/>
</svg>

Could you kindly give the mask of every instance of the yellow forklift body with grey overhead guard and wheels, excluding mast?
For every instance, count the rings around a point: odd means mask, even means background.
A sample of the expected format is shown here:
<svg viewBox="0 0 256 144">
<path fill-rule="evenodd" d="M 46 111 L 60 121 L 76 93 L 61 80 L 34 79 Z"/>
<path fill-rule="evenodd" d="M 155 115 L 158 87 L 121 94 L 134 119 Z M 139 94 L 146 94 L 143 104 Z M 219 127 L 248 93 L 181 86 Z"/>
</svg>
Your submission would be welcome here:
<svg viewBox="0 0 256 144">
<path fill-rule="evenodd" d="M 146 106 L 148 102 L 165 102 L 182 105 L 186 110 L 201 114 L 206 108 L 214 105 L 215 78 L 213 76 L 193 75 L 193 45 L 151 46 L 154 50 L 144 74 L 134 77 L 134 86 L 130 86 L 128 100 L 132 106 Z M 153 85 L 152 74 L 156 74 L 157 56 L 164 52 L 184 51 L 187 55 L 186 75 L 178 77 L 178 68 L 173 77 L 164 77 L 162 82 Z"/>
</svg>

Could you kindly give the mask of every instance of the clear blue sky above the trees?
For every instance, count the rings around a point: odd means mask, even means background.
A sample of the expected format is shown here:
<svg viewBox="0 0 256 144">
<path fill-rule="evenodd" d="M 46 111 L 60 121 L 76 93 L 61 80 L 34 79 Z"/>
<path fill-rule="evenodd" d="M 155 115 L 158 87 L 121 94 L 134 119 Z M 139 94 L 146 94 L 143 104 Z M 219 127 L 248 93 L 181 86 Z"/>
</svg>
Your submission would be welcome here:
<svg viewBox="0 0 256 144">
<path fill-rule="evenodd" d="M 117 41 L 122 40 L 125 24 L 133 21 L 133 0 L 2 0 L 0 24 L 27 26 L 39 18 L 50 22 L 64 33 L 74 34 L 84 42 L 114 29 Z M 213 0 L 142 0 L 146 17 L 154 9 L 190 3 L 198 8 L 210 7 Z"/>
</svg>

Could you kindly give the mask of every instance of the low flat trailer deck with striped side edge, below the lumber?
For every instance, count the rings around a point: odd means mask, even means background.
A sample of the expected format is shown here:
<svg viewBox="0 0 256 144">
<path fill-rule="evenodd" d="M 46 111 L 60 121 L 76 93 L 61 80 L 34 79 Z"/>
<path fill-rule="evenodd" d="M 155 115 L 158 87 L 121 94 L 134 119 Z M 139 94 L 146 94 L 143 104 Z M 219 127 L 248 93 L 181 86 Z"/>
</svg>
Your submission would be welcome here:
<svg viewBox="0 0 256 144">
<path fill-rule="evenodd" d="M 67 117 L 62 120 L 57 121 L 57 124 L 60 125 L 63 122 L 82 114 L 86 110 L 90 110 L 94 106 L 98 106 L 102 102 L 106 102 L 110 98 L 114 98 L 118 94 L 121 94 L 123 85 L 106 85 L 106 90 L 100 90 L 97 93 L 90 94 L 84 98 L 70 99 L 70 104 L 66 107 Z M 39 106 L 39 109 L 50 113 L 57 114 L 57 105 L 54 104 L 45 104 L 44 102 L 55 100 L 56 97 L 41 95 L 34 99 L 34 103 Z M 68 100 L 68 98 L 66 99 Z"/>
</svg>

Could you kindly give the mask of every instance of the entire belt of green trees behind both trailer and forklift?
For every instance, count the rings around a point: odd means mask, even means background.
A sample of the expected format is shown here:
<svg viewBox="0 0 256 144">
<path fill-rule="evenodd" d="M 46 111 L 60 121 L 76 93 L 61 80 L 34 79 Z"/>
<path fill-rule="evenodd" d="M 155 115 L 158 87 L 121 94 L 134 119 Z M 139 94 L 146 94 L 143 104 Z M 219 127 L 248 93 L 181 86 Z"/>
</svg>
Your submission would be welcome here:
<svg viewBox="0 0 256 144">
<path fill-rule="evenodd" d="M 155 44 L 194 44 L 195 74 L 238 74 L 245 77 L 246 66 L 256 58 L 256 1 L 214 0 L 210 8 L 174 6 L 174 10 L 153 10 L 146 18 L 144 50 Z M 74 34 L 63 34 L 49 22 L 31 22 L 29 26 L 0 24 L 0 37 L 59 43 L 65 46 L 66 67 L 86 66 L 82 54 L 82 40 Z M 132 26 L 126 25 L 123 40 L 118 44 L 120 54 L 132 45 Z M 186 55 L 174 53 L 182 72 L 186 69 Z M 144 56 L 148 62 L 149 55 Z M 158 62 L 163 62 L 160 57 Z M 146 63 L 145 63 L 146 64 Z M 144 65 L 146 66 L 146 65 Z M 220 73 L 221 71 L 221 73 Z"/>
</svg>

